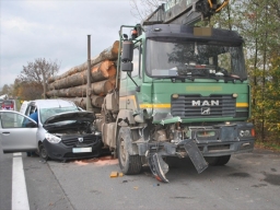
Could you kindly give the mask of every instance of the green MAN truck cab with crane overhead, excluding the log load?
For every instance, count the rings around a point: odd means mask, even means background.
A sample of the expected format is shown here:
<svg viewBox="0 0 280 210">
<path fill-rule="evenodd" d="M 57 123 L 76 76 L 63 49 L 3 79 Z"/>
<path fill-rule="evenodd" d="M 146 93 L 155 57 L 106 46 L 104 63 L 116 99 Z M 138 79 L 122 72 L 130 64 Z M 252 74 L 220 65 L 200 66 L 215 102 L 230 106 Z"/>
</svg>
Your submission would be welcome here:
<svg viewBox="0 0 280 210">
<path fill-rule="evenodd" d="M 141 24 L 120 27 L 116 89 L 105 96 L 95 132 L 124 174 L 149 164 L 167 183 L 168 156 L 189 156 L 201 173 L 253 151 L 244 40 L 234 31 L 192 26 L 228 3 L 171 0 Z"/>
</svg>

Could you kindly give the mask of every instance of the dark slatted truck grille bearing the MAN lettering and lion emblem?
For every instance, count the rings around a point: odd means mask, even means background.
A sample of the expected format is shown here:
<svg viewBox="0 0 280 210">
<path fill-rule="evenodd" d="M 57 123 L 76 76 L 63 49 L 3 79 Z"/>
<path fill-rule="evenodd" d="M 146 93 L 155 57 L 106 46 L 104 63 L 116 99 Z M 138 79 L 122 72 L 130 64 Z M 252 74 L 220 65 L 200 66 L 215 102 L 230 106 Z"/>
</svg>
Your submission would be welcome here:
<svg viewBox="0 0 280 210">
<path fill-rule="evenodd" d="M 232 95 L 179 94 L 171 98 L 173 116 L 182 118 L 234 117 L 236 98 Z"/>
</svg>

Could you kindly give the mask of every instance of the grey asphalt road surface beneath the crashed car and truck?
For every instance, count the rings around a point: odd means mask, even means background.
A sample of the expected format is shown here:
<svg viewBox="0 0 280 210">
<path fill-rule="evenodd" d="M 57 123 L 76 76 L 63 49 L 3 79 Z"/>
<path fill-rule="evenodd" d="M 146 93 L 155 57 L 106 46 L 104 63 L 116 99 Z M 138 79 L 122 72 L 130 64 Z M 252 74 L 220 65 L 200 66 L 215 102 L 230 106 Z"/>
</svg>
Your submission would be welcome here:
<svg viewBox="0 0 280 210">
<path fill-rule="evenodd" d="M 1 154 L 0 209 L 10 209 L 10 154 Z M 279 153 L 255 150 L 236 154 L 226 166 L 208 167 L 201 174 L 197 174 L 188 159 L 170 162 L 166 174 L 170 183 L 163 184 L 149 168 L 139 175 L 112 178 L 110 173 L 119 172 L 119 167 L 110 156 L 44 163 L 39 158 L 23 154 L 30 208 L 262 210 L 280 207 Z"/>
</svg>

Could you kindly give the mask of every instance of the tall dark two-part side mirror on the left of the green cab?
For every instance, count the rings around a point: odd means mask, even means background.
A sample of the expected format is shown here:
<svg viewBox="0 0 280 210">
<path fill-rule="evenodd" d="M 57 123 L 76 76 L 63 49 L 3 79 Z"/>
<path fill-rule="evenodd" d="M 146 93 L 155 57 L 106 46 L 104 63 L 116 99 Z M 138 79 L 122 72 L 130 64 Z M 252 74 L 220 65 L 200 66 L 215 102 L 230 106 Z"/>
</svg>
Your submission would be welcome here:
<svg viewBox="0 0 280 210">
<path fill-rule="evenodd" d="M 133 48 L 135 45 L 131 40 L 122 42 L 122 54 L 121 54 L 121 71 L 131 72 L 133 70 Z"/>
</svg>

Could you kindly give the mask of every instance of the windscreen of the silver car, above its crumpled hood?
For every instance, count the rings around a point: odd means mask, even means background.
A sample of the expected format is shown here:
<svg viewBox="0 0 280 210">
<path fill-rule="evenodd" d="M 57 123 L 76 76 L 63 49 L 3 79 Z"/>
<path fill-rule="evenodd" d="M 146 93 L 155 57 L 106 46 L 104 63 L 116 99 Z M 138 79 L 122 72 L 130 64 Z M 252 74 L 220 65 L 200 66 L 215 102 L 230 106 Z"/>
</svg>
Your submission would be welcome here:
<svg viewBox="0 0 280 210">
<path fill-rule="evenodd" d="M 54 115 L 68 113 L 68 112 L 77 112 L 77 110 L 79 110 L 77 106 L 40 108 L 39 119 L 40 119 L 40 122 L 44 124 L 46 119 L 48 119 Z"/>
</svg>

